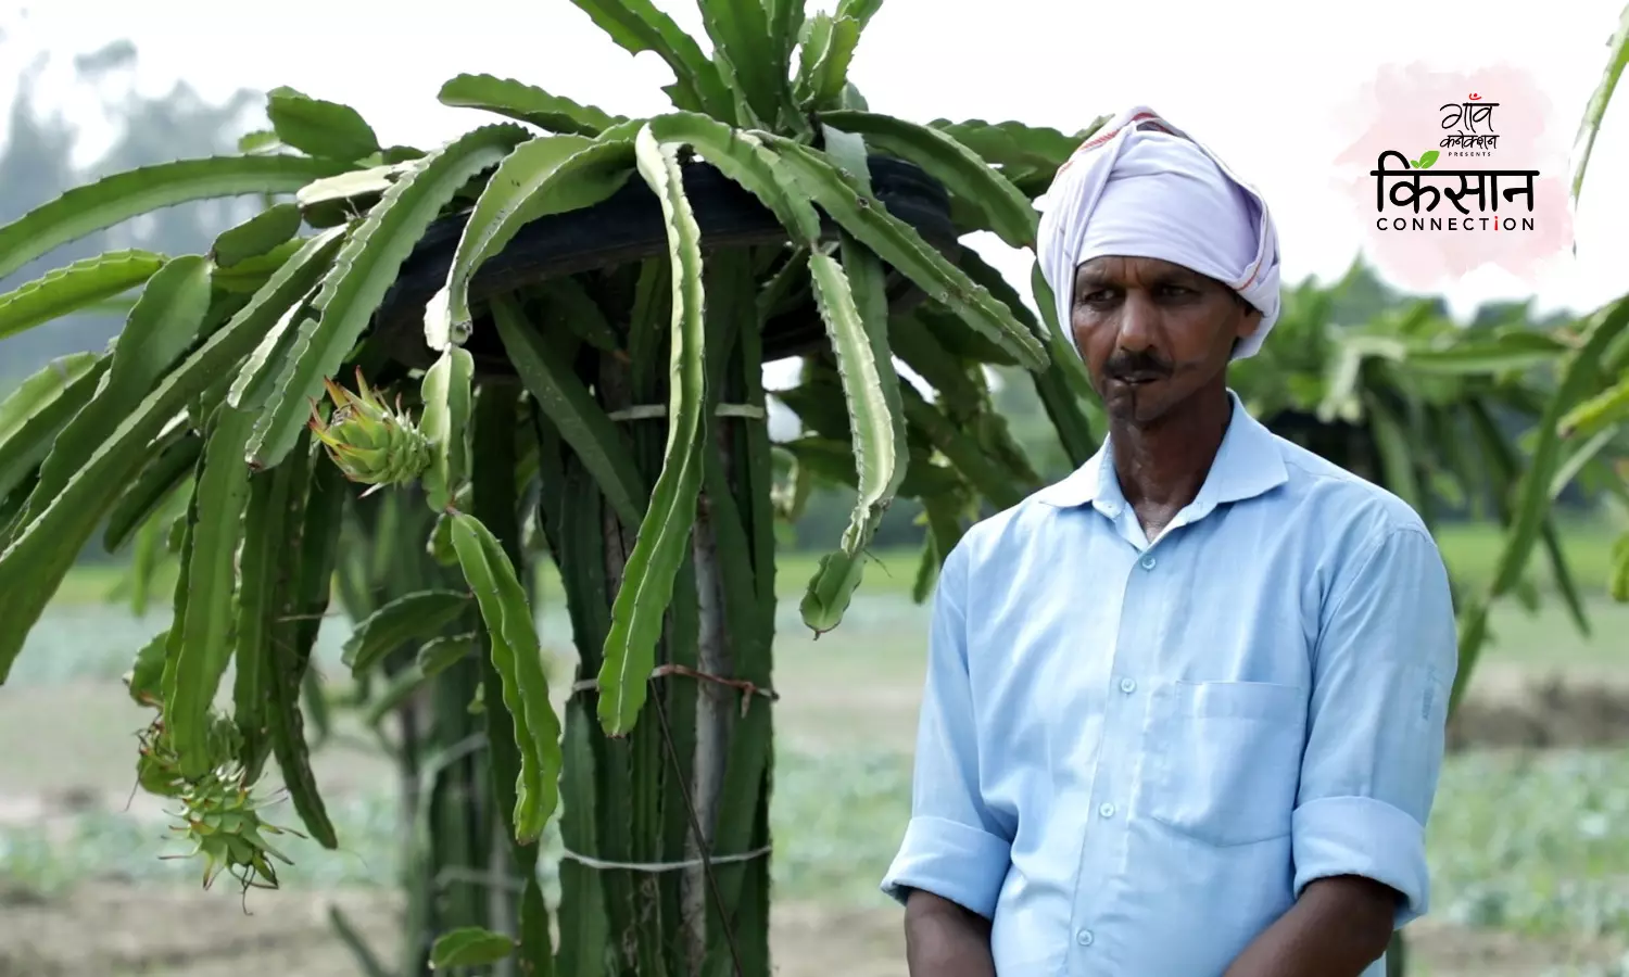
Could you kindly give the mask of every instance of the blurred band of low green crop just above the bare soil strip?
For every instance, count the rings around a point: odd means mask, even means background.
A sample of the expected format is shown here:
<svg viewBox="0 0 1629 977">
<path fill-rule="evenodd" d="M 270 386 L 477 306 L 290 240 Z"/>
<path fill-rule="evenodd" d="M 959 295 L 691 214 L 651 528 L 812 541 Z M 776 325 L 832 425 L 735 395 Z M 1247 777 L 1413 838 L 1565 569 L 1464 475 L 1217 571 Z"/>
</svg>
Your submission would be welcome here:
<svg viewBox="0 0 1629 977">
<path fill-rule="evenodd" d="M 290 889 L 393 886 L 397 871 L 394 798 L 368 791 L 332 804 L 340 852 L 285 839 Z M 911 813 L 911 759 L 872 749 L 801 752 L 782 746 L 775 772 L 772 871 L 777 896 L 842 905 L 883 905 L 876 883 Z M 1456 756 L 1443 770 L 1429 858 L 1432 913 L 1471 927 L 1535 936 L 1606 935 L 1629 927 L 1629 751 L 1544 757 Z M 290 824 L 287 806 L 274 822 Z M 296 824 L 296 822 L 293 822 Z M 0 830 L 3 874 L 50 892 L 90 878 L 195 884 L 197 861 L 163 829 L 114 811 L 42 827 Z M 544 878 L 554 884 L 559 837 L 544 837 Z M 252 896 L 251 896 L 252 905 Z"/>
</svg>

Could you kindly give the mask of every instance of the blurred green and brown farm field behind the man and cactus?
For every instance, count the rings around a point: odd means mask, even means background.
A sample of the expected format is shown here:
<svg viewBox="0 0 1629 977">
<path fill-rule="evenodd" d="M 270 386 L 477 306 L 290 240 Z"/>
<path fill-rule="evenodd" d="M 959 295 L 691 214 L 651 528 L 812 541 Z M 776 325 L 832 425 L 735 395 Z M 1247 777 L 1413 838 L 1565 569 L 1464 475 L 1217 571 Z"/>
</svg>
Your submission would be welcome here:
<svg viewBox="0 0 1629 977">
<path fill-rule="evenodd" d="M 1411 972 L 1435 977 L 1629 974 L 1629 607 L 1605 602 L 1606 534 L 1569 532 L 1588 586 L 1580 637 L 1551 581 L 1538 611 L 1494 619 L 1478 686 L 1455 728 L 1430 830 L 1432 915 L 1411 928 Z M 1497 537 L 1442 536 L 1468 586 Z M 902 975 L 899 910 L 876 891 L 909 813 L 925 609 L 909 599 L 915 554 L 878 554 L 841 629 L 813 642 L 797 596 L 813 560 L 788 555 L 777 643 L 775 954 L 788 977 Z M 283 887 L 199 891 L 197 865 L 161 860 L 163 809 L 132 798 L 147 713 L 119 674 L 165 627 L 117 593 L 119 572 L 77 572 L 0 689 L 0 977 L 134 974 L 339 977 L 358 969 L 331 909 L 394 953 L 396 806 L 388 760 L 340 713 L 318 756 L 342 850 L 288 839 Z M 160 591 L 163 593 L 163 591 Z M 539 585 L 542 635 L 570 668 L 560 599 Z M 340 679 L 344 620 L 319 661 Z M 296 824 L 279 808 L 274 822 Z M 555 845 L 546 837 L 546 845 Z"/>
</svg>

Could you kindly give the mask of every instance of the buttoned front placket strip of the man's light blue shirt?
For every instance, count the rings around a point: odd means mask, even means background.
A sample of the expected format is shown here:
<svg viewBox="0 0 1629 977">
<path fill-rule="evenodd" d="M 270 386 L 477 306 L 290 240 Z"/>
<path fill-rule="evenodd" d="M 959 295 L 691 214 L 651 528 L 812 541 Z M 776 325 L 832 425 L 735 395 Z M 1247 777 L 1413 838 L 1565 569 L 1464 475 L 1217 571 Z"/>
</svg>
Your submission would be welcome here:
<svg viewBox="0 0 1629 977">
<path fill-rule="evenodd" d="M 1116 629 L 1109 689 L 1103 705 L 1103 738 L 1087 811 L 1087 830 L 1075 881 L 1074 948 L 1069 974 L 1098 977 L 1121 974 L 1119 954 L 1106 920 L 1114 900 L 1126 892 L 1129 814 L 1134 765 L 1137 764 L 1145 687 L 1145 669 L 1155 658 L 1148 642 L 1157 633 L 1160 606 L 1160 560 L 1171 547 L 1153 545 L 1137 554 L 1126 570 L 1121 619 Z"/>
</svg>

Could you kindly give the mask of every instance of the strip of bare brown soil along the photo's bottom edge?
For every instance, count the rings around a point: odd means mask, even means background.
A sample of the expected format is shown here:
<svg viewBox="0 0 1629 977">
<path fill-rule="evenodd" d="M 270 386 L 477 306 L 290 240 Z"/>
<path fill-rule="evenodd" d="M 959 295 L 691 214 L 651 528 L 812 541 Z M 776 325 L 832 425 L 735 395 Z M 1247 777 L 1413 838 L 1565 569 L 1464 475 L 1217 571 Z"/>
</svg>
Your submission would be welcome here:
<svg viewBox="0 0 1629 977">
<path fill-rule="evenodd" d="M 357 977 L 329 928 L 329 904 L 381 956 L 394 953 L 394 900 L 376 892 L 256 892 L 244 915 L 225 891 L 108 883 L 50 900 L 0 891 L 0 977 Z M 1443 923 L 1422 922 L 1411 935 L 1412 957 L 1432 977 L 1535 977 L 1622 954 L 1613 943 L 1535 941 Z M 904 977 L 891 910 L 782 904 L 772 940 L 780 977 Z"/>
</svg>

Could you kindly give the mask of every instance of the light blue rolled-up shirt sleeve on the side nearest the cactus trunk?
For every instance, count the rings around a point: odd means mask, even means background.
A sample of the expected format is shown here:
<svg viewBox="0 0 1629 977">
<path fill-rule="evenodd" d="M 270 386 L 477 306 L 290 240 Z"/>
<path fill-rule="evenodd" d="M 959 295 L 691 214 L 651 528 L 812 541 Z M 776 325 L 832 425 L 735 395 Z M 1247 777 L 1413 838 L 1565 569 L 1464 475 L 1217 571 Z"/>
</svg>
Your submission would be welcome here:
<svg viewBox="0 0 1629 977">
<path fill-rule="evenodd" d="M 963 545 L 946 557 L 933 594 L 911 821 L 881 887 L 901 904 L 911 889 L 924 889 L 989 918 L 1007 876 L 1012 837 L 979 793 L 966 593 Z"/>
</svg>

